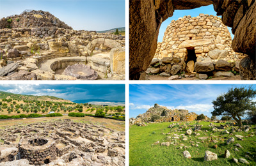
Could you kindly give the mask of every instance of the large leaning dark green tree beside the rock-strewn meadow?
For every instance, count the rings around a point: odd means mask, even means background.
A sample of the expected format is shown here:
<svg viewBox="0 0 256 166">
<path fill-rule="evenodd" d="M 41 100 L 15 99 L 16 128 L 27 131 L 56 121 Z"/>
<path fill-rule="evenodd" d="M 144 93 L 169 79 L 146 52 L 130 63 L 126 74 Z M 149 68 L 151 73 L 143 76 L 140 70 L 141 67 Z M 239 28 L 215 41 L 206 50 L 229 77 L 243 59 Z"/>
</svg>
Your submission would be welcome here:
<svg viewBox="0 0 256 166">
<path fill-rule="evenodd" d="M 221 94 L 212 102 L 214 110 L 212 116 L 231 116 L 241 127 L 242 119 L 245 114 L 250 111 L 255 111 L 256 106 L 253 98 L 256 96 L 256 91 L 252 86 L 235 87 L 228 89 L 227 93 Z"/>
</svg>

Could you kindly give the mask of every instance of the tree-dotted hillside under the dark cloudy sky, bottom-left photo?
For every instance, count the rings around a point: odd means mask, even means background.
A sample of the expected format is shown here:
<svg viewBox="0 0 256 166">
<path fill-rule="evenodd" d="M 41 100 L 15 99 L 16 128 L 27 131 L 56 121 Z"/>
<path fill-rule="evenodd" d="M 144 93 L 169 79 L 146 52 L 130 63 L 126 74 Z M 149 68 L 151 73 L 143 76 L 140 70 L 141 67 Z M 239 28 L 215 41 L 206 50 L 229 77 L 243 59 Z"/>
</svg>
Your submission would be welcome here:
<svg viewBox="0 0 256 166">
<path fill-rule="evenodd" d="M 83 112 L 95 114 L 97 110 L 103 109 L 108 114 L 125 114 L 124 105 L 103 107 L 102 105 L 70 102 L 54 96 L 33 96 L 25 94 L 14 94 L 0 91 L 0 116 L 16 116 L 19 114 L 47 114 L 58 112 L 68 114 L 69 112 Z M 0 117 L 1 119 L 1 117 Z"/>
</svg>

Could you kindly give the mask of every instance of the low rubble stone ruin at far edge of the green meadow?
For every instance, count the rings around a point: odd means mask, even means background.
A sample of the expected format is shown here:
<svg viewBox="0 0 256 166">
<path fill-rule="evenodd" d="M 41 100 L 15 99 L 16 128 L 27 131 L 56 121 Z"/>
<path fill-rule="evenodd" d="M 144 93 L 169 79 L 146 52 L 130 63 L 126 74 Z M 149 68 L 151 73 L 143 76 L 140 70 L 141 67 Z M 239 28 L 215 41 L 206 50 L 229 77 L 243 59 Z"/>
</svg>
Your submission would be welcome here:
<svg viewBox="0 0 256 166">
<path fill-rule="evenodd" d="M 144 123 L 149 123 L 153 115 L 159 116 L 156 122 L 171 122 L 171 121 L 194 121 L 197 114 L 194 112 L 188 112 L 183 109 L 167 109 L 166 107 L 160 106 L 157 103 L 154 107 L 147 110 L 147 112 L 138 115 L 136 118 L 130 118 L 130 124 L 137 124 L 143 126 Z"/>
</svg>

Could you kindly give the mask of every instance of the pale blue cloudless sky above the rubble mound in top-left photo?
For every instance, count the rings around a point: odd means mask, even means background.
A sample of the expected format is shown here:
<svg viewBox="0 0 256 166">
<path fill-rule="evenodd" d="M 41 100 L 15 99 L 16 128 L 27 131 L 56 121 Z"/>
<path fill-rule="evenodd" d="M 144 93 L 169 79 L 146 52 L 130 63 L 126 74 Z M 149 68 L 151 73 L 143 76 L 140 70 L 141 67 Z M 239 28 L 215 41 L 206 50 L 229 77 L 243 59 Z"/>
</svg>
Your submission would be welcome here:
<svg viewBox="0 0 256 166">
<path fill-rule="evenodd" d="M 125 0 L 0 0 L 0 19 L 26 9 L 49 11 L 75 30 L 125 26 Z"/>
</svg>

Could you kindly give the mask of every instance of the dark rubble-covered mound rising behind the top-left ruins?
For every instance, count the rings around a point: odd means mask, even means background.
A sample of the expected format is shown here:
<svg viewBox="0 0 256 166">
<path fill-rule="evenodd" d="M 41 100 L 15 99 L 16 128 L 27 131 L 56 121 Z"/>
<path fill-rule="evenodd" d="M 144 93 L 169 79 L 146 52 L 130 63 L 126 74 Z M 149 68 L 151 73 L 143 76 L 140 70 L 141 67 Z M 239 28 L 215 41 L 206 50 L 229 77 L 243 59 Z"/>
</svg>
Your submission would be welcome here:
<svg viewBox="0 0 256 166">
<path fill-rule="evenodd" d="M 59 27 L 72 29 L 48 11 L 25 10 L 20 15 L 11 15 L 0 20 L 0 29 L 14 27 Z"/>
</svg>

